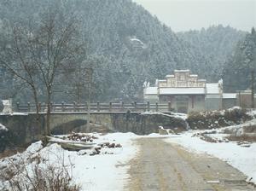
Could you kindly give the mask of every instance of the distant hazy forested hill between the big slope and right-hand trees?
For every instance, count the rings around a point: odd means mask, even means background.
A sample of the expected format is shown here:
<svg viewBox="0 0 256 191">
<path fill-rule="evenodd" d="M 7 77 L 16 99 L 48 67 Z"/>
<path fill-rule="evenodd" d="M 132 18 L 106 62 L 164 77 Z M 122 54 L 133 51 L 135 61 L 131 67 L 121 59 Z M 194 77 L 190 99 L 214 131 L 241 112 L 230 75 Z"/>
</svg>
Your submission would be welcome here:
<svg viewBox="0 0 256 191">
<path fill-rule="evenodd" d="M 209 78 L 218 80 L 222 75 L 224 63 L 234 52 L 236 43 L 243 39 L 246 32 L 237 31 L 230 26 L 210 26 L 201 31 L 178 32 L 178 38 L 190 43 L 210 61 L 212 71 L 207 71 Z"/>
</svg>

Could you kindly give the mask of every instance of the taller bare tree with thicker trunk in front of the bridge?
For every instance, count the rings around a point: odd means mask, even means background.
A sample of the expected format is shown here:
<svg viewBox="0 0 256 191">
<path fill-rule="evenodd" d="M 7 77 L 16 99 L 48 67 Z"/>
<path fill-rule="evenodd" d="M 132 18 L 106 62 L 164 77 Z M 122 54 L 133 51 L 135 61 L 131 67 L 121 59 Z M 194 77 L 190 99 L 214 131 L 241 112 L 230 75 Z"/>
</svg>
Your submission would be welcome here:
<svg viewBox="0 0 256 191">
<path fill-rule="evenodd" d="M 83 60 L 84 43 L 80 43 L 75 17 L 60 12 L 46 14 L 30 44 L 33 60 L 46 90 L 46 135 L 49 135 L 50 102 L 55 76 L 61 67 L 69 67 Z"/>
</svg>

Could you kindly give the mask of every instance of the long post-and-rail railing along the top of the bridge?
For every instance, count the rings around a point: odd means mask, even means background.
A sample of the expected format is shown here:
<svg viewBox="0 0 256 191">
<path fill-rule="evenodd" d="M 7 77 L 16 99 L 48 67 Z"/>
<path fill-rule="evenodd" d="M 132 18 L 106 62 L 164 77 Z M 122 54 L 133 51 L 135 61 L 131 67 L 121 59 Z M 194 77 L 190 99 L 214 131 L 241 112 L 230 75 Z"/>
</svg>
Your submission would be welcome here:
<svg viewBox="0 0 256 191">
<path fill-rule="evenodd" d="M 27 104 L 16 103 L 18 112 L 22 113 L 35 113 L 36 105 L 28 102 Z M 47 111 L 47 104 L 38 103 L 39 112 Z M 124 102 L 109 102 L 109 103 L 50 103 L 50 110 L 52 113 L 70 113 L 70 112 L 171 112 L 171 102 L 168 103 L 150 103 L 149 101 L 143 103 L 137 103 L 137 101 L 131 103 Z"/>
</svg>

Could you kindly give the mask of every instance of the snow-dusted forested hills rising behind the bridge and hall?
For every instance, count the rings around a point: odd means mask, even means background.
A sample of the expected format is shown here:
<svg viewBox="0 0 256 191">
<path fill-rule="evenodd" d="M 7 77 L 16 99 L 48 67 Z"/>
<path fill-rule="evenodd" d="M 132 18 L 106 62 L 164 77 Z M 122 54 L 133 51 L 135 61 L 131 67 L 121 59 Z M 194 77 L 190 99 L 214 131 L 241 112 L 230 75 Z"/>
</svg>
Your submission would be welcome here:
<svg viewBox="0 0 256 191">
<path fill-rule="evenodd" d="M 160 20 L 131 0 L 0 1 L 0 23 L 11 23 L 15 20 L 26 22 L 27 18 L 40 20 L 40 16 L 49 8 L 58 8 L 67 14 L 74 12 L 80 20 L 79 26 L 83 35 L 81 40 L 86 41 L 86 54 L 90 57 L 84 63 L 93 63 L 92 97 L 95 101 L 141 99 L 145 80 L 154 82 L 155 78 L 164 78 L 174 69 L 189 68 L 201 78 L 212 79 L 212 76 L 215 76 L 212 71 L 214 73 L 218 68 L 215 66 L 218 63 L 217 57 L 221 52 L 228 54 L 231 51 L 232 43 L 229 40 L 235 43 L 242 36 L 240 32 L 232 33 L 230 28 L 216 28 L 210 36 L 207 33 L 208 30 L 212 31 L 211 28 L 198 35 L 177 35 L 170 27 L 163 25 Z M 4 25 L 1 26 L 0 30 L 4 30 Z M 231 32 L 224 38 L 218 30 Z M 196 41 L 194 36 L 202 39 Z M 189 40 L 190 37 L 193 40 Z M 207 41 L 207 37 L 212 37 L 212 40 Z M 218 44 L 215 44 L 216 42 Z M 212 43 L 212 46 L 209 43 Z M 219 44 L 222 45 L 222 50 L 217 49 Z M 214 53 L 210 54 L 212 47 Z M 222 58 L 221 55 L 221 61 Z M 87 99 L 86 82 L 82 86 L 76 86 L 78 75 L 57 78 L 55 100 Z M 15 83 L 13 82 L 13 85 Z M 63 88 L 57 84 L 67 86 Z M 4 90 L 4 87 L 9 86 L 3 82 L 2 87 Z M 83 90 L 78 90 L 81 87 Z M 61 90 L 65 90 L 65 94 Z M 79 97 L 75 92 L 85 94 Z M 16 95 L 15 92 L 12 92 L 12 95 Z M 22 96 L 19 99 L 22 101 Z M 41 99 L 44 99 L 44 95 Z"/>
</svg>

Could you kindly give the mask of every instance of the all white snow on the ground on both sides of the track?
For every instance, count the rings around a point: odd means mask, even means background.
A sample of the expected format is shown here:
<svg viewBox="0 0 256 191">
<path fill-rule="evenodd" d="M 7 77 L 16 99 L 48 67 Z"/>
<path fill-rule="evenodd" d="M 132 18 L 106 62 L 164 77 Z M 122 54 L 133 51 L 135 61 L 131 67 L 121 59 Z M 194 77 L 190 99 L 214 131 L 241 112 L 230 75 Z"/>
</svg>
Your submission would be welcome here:
<svg viewBox="0 0 256 191">
<path fill-rule="evenodd" d="M 226 128 L 241 129 L 245 125 L 254 123 L 256 123 L 255 119 L 245 124 Z M 129 178 L 127 175 L 129 169 L 127 162 L 134 158 L 138 151 L 136 145 L 132 144 L 133 139 L 139 137 L 166 137 L 166 142 L 180 144 L 191 152 L 207 153 L 227 161 L 247 175 L 249 179 L 252 177 L 253 179 L 250 181 L 256 183 L 256 143 L 252 143 L 249 148 L 245 148 L 237 145 L 236 142 L 212 143 L 205 142 L 198 136 L 193 136 L 195 133 L 207 132 L 207 136 L 223 140 L 224 136 L 226 136 L 224 129 L 213 130 L 216 132 L 215 134 L 211 134 L 212 130 L 189 130 L 180 135 L 166 136 L 160 136 L 157 133 L 148 136 L 137 136 L 133 133 L 110 133 L 104 136 L 91 134 L 98 137 L 98 139 L 94 140 L 96 144 L 102 142 L 120 143 L 122 148 L 102 148 L 100 154 L 90 156 L 90 152 L 87 149 L 79 152 L 67 151 L 56 143 L 43 148 L 41 142 L 35 142 L 25 152 L 15 154 L 8 159 L 15 161 L 15 163 L 24 162 L 25 160 L 27 171 L 32 171 L 32 164 L 29 161 L 38 155 L 42 158 L 40 164 L 43 166 L 46 163 L 58 166 L 58 164 L 61 165 L 63 160 L 65 165 L 70 166 L 73 182 L 79 184 L 82 190 L 123 190 L 126 179 Z M 63 142 L 65 141 L 63 140 Z M 84 154 L 85 152 L 87 154 Z M 0 159 L 0 171 L 9 165 L 8 159 Z M 32 161 L 32 163 L 36 162 Z M 15 178 L 19 177 L 16 176 Z M 1 182 L 0 179 L 0 190 L 4 185 L 8 185 L 8 182 Z"/>
</svg>

